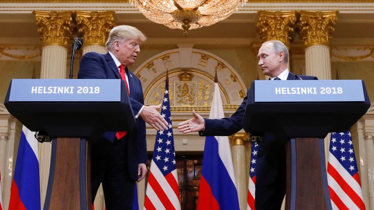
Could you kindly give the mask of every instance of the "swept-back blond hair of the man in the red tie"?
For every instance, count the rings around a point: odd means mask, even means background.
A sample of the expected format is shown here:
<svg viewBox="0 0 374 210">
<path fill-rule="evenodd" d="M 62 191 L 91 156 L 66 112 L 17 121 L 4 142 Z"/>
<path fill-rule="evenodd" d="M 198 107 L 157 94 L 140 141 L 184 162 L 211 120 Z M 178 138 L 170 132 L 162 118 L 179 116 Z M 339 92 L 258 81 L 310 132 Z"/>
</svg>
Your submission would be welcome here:
<svg viewBox="0 0 374 210">
<path fill-rule="evenodd" d="M 135 27 L 120 25 L 112 28 L 111 32 L 109 32 L 109 37 L 107 43 L 105 43 L 105 47 L 110 51 L 113 48 L 113 42 L 115 40 L 124 42 L 126 39 L 139 39 L 140 42 L 144 42 L 147 40 L 147 37 Z"/>
</svg>

